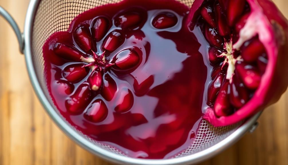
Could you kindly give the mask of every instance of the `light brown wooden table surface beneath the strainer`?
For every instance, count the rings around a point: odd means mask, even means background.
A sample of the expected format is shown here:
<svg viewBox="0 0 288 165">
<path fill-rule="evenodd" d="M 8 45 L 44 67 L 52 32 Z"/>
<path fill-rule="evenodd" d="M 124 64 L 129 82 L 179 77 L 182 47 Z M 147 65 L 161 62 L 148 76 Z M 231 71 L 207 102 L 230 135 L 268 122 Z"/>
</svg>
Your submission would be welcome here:
<svg viewBox="0 0 288 165">
<path fill-rule="evenodd" d="M 274 0 L 288 17 L 288 1 Z M 23 30 L 29 0 L 0 0 Z M 288 75 L 283 75 L 288 76 Z M 201 165 L 287 165 L 288 93 L 266 109 L 257 130 Z M 0 18 L 0 165 L 113 165 L 56 127 L 39 103 L 12 29 Z"/>
</svg>

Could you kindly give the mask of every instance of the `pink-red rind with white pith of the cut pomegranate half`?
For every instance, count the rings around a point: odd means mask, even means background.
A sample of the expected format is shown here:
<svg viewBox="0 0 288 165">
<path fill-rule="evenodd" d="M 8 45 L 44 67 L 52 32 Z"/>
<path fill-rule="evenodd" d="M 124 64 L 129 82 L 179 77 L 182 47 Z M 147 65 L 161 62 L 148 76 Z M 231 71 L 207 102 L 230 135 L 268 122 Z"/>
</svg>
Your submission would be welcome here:
<svg viewBox="0 0 288 165">
<path fill-rule="evenodd" d="M 204 0 L 195 0 L 186 24 L 190 31 L 196 25 L 196 19 L 200 15 L 200 6 Z M 213 108 L 207 108 L 204 119 L 215 127 L 227 126 L 238 123 L 266 107 L 277 102 L 288 86 L 288 22 L 279 12 L 271 0 L 247 0 L 251 13 L 247 23 L 240 31 L 239 44 L 244 43 L 241 36 L 252 38 L 259 35 L 259 40 L 267 51 L 268 64 L 261 83 L 253 97 L 239 110 L 230 116 L 217 117 Z M 255 23 L 257 21 L 257 23 Z M 250 33 L 251 36 L 247 36 Z M 237 44 L 237 43 L 236 43 Z"/>
</svg>

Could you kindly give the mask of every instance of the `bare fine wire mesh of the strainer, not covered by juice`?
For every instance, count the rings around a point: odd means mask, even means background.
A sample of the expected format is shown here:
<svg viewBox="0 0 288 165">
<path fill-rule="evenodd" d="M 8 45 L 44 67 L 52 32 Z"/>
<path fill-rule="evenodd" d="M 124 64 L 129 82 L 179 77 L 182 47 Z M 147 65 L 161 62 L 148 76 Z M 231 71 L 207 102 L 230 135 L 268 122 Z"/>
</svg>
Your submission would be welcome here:
<svg viewBox="0 0 288 165">
<path fill-rule="evenodd" d="M 42 0 L 38 6 L 32 33 L 32 57 L 35 72 L 40 85 L 48 98 L 50 104 L 54 106 L 46 86 L 46 74 L 44 72 L 44 60 L 42 46 L 50 35 L 57 31 L 66 31 L 70 22 L 78 14 L 94 8 L 99 5 L 116 3 L 121 0 Z M 179 0 L 181 3 L 191 6 L 194 0 Z M 54 109 L 56 107 L 54 106 Z M 64 118 L 63 118 L 64 120 Z M 179 158 L 186 155 L 207 149 L 234 132 L 241 123 L 229 127 L 214 128 L 206 121 L 201 121 L 194 143 L 182 153 L 173 158 Z M 121 154 L 119 150 L 105 144 L 101 144 L 83 135 L 95 145 L 102 147 L 113 153 Z"/>
</svg>

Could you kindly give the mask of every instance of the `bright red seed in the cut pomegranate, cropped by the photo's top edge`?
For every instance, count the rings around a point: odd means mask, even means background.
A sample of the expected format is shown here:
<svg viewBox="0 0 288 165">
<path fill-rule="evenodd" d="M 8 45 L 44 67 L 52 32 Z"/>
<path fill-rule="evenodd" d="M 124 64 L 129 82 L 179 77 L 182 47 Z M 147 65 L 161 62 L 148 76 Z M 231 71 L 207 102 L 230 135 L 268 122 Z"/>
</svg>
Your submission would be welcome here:
<svg viewBox="0 0 288 165">
<path fill-rule="evenodd" d="M 233 0 L 229 1 L 228 6 L 228 23 L 233 26 L 244 11 L 245 0 Z"/>
</svg>

